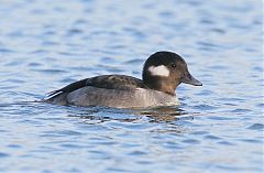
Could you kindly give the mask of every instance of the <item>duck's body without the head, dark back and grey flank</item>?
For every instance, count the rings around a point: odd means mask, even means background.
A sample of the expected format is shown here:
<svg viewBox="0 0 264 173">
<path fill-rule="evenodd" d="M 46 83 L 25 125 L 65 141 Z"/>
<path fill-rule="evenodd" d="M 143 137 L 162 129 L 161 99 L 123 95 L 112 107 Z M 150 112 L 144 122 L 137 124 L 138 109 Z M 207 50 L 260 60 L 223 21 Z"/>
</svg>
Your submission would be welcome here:
<svg viewBox="0 0 264 173">
<path fill-rule="evenodd" d="M 100 105 L 116 108 L 179 104 L 175 96 L 150 89 L 141 79 L 124 75 L 87 78 L 57 90 L 57 94 L 47 101 L 57 105 Z"/>
</svg>

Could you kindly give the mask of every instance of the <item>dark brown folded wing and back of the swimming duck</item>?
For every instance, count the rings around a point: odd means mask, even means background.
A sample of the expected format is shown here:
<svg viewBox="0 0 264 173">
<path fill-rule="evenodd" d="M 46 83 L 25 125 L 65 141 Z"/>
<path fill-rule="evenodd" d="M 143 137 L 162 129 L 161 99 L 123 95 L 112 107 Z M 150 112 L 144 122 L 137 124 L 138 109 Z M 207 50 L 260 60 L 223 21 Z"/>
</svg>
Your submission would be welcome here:
<svg viewBox="0 0 264 173">
<path fill-rule="evenodd" d="M 106 89 L 122 89 L 122 90 L 132 89 L 132 88 L 147 88 L 141 79 L 132 76 L 103 75 L 103 76 L 97 76 L 97 77 L 91 77 L 91 78 L 86 78 L 82 80 L 75 82 L 61 89 L 48 93 L 47 97 L 55 97 L 64 93 L 72 93 L 74 90 L 77 90 L 86 86 L 94 86 L 94 87 L 106 88 Z"/>
</svg>

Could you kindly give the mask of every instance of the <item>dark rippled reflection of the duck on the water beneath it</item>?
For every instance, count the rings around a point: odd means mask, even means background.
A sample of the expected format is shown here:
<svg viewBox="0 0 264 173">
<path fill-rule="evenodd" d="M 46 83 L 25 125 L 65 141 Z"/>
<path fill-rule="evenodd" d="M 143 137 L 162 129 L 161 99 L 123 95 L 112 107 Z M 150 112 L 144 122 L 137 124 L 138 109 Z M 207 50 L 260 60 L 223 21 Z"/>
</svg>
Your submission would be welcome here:
<svg viewBox="0 0 264 173">
<path fill-rule="evenodd" d="M 76 117 L 88 123 L 117 120 L 121 122 L 175 122 L 179 119 L 191 120 L 193 116 L 178 107 L 156 107 L 147 109 L 116 109 L 106 107 L 69 109 L 68 117 Z"/>
</svg>

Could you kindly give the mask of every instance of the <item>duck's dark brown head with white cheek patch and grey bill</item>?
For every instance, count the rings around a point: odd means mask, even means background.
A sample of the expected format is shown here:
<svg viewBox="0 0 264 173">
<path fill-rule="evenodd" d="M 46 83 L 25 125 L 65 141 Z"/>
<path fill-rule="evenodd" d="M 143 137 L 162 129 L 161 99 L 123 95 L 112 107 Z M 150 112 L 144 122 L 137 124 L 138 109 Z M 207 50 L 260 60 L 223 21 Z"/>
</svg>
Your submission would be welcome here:
<svg viewBox="0 0 264 173">
<path fill-rule="evenodd" d="M 156 52 L 145 62 L 143 67 L 143 83 L 155 90 L 175 95 L 180 83 L 201 86 L 193 77 L 183 57 L 173 52 Z"/>
</svg>

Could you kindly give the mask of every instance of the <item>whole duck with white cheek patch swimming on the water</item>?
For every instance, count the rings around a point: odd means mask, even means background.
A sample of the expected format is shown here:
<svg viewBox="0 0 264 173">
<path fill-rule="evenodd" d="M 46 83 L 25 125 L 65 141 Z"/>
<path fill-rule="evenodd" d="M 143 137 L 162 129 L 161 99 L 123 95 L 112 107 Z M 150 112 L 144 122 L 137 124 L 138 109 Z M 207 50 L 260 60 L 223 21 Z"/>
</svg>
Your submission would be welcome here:
<svg viewBox="0 0 264 173">
<path fill-rule="evenodd" d="M 179 105 L 175 89 L 180 83 L 202 84 L 188 72 L 186 62 L 173 52 L 156 52 L 143 67 L 143 79 L 125 75 L 86 78 L 51 91 L 46 102 L 76 106 L 144 108 Z"/>
</svg>

